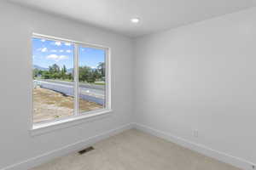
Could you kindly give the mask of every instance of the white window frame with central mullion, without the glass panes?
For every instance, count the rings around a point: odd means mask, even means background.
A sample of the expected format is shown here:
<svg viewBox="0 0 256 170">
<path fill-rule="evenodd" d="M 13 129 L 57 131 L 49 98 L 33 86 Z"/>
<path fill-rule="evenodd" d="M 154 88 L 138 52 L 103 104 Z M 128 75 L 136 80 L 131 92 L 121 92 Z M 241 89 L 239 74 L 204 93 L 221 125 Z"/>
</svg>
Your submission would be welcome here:
<svg viewBox="0 0 256 170">
<path fill-rule="evenodd" d="M 80 123 L 83 121 L 82 119 L 89 119 L 93 118 L 95 119 L 95 116 L 102 116 L 106 113 L 109 113 L 112 111 L 112 105 L 111 105 L 111 60 L 110 60 L 110 48 L 104 47 L 101 45 L 96 45 L 92 43 L 86 43 L 86 42 L 79 42 L 79 41 L 73 41 L 65 38 L 60 37 L 51 37 L 51 36 L 45 36 L 38 33 L 32 33 L 32 38 L 41 38 L 46 39 L 50 41 L 60 41 L 60 42 L 69 42 L 72 43 L 74 46 L 74 112 L 73 116 L 67 116 L 62 118 L 55 118 L 53 120 L 50 120 L 48 122 L 33 122 L 33 104 L 32 104 L 32 126 L 31 129 L 34 134 L 38 133 L 46 133 L 48 131 L 51 131 L 51 128 L 55 125 L 58 125 L 60 128 L 63 127 L 69 127 L 73 126 L 74 124 Z M 105 107 L 104 109 L 96 110 L 96 111 L 84 111 L 83 113 L 79 113 L 79 47 L 83 48 L 97 48 L 102 49 L 105 51 L 105 72 L 106 72 L 106 79 L 105 79 Z M 33 63 L 33 61 L 32 61 Z M 31 81 L 32 82 L 32 81 Z M 33 85 L 32 85 L 33 88 Z M 32 92 L 32 90 L 31 90 Z M 33 102 L 33 95 L 32 95 L 32 102 Z M 65 125 L 62 125 L 65 124 Z M 46 130 L 44 127 L 48 127 Z M 59 128 L 54 127 L 53 129 Z M 43 129 L 44 128 L 44 129 Z"/>
</svg>

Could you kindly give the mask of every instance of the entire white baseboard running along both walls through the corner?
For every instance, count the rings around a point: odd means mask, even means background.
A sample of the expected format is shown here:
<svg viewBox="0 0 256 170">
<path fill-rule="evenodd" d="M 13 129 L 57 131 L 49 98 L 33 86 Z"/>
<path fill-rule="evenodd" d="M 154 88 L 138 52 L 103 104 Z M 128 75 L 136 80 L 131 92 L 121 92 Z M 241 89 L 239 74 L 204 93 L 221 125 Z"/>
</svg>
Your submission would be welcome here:
<svg viewBox="0 0 256 170">
<path fill-rule="evenodd" d="M 96 136 L 90 137 L 89 139 L 80 140 L 74 144 L 68 144 L 67 146 L 59 148 L 57 150 L 52 150 L 52 151 L 44 153 L 40 156 L 35 156 L 35 157 L 32 157 L 25 161 L 20 161 L 14 165 L 10 165 L 9 167 L 4 167 L 1 170 L 27 170 L 29 168 L 36 167 L 44 162 L 55 159 L 56 157 L 64 156 L 70 152 L 80 150 L 81 148 L 89 146 L 90 144 L 95 144 L 97 141 L 100 141 L 102 139 L 107 139 L 108 137 L 110 137 L 114 134 L 121 133 L 121 132 L 131 129 L 133 127 L 137 128 L 138 130 L 141 130 L 145 133 L 150 133 L 154 136 L 160 137 L 162 139 L 166 139 L 175 144 L 182 145 L 183 147 L 186 147 L 190 150 L 195 150 L 203 155 L 210 156 L 214 159 L 217 159 L 218 161 L 223 161 L 223 162 L 233 165 L 235 167 L 240 167 L 241 169 L 253 170 L 252 165 L 255 165 L 255 164 L 253 164 L 253 162 L 246 161 L 246 160 L 241 159 L 236 156 L 230 156 L 230 155 L 228 155 L 224 152 L 218 151 L 218 150 L 212 150 L 205 145 L 195 144 L 191 141 L 179 138 L 170 133 L 161 132 L 160 130 L 157 130 L 157 129 L 154 129 L 152 127 L 148 127 L 148 126 L 145 126 L 142 124 L 131 123 L 131 124 L 127 124 L 125 126 L 118 127 L 113 130 L 107 131 L 105 133 L 101 133 Z"/>
</svg>

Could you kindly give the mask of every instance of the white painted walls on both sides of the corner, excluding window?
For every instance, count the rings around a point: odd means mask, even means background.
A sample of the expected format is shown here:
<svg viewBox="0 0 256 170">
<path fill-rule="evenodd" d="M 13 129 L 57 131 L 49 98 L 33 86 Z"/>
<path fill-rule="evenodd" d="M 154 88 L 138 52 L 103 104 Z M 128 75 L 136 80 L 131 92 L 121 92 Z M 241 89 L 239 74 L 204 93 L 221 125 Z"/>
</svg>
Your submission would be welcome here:
<svg viewBox="0 0 256 170">
<path fill-rule="evenodd" d="M 133 60 L 128 37 L 0 2 L 0 169 L 131 121 L 256 162 L 255 20 L 252 8 L 140 37 Z M 112 48 L 111 116 L 32 137 L 32 31 Z"/>
</svg>

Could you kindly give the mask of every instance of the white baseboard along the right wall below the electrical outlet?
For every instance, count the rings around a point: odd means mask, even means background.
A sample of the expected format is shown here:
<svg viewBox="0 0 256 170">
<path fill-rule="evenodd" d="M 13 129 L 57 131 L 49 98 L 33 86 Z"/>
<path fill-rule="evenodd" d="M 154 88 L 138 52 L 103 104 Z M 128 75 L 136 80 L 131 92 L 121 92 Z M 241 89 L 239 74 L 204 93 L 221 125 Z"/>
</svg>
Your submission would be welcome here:
<svg viewBox="0 0 256 170">
<path fill-rule="evenodd" d="M 152 127 L 148 127 L 138 123 L 134 123 L 134 127 L 145 133 L 150 133 L 154 136 L 160 137 L 161 139 L 166 139 L 175 144 L 182 145 L 183 147 L 188 148 L 189 150 L 195 150 L 196 152 L 199 152 L 205 156 L 212 157 L 214 159 L 217 159 L 218 161 L 223 161 L 225 163 L 233 165 L 234 167 L 239 167 L 245 170 L 253 170 L 253 165 L 255 165 L 253 162 L 246 161 L 236 156 L 230 156 L 229 154 L 226 154 L 218 150 L 212 150 L 211 148 L 208 148 L 205 145 L 195 144 L 186 139 L 179 138 L 170 133 L 161 132 L 160 130 L 154 129 Z"/>
</svg>

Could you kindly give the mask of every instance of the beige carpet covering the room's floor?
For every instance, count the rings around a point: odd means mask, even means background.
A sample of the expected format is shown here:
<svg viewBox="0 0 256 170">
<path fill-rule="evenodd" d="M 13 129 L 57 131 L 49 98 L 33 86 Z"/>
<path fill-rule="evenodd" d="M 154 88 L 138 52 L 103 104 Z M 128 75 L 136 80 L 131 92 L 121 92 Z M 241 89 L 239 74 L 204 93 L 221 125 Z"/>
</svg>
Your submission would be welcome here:
<svg viewBox="0 0 256 170">
<path fill-rule="evenodd" d="M 33 170 L 238 170 L 135 129 L 93 147 L 84 155 L 72 153 Z"/>
</svg>

